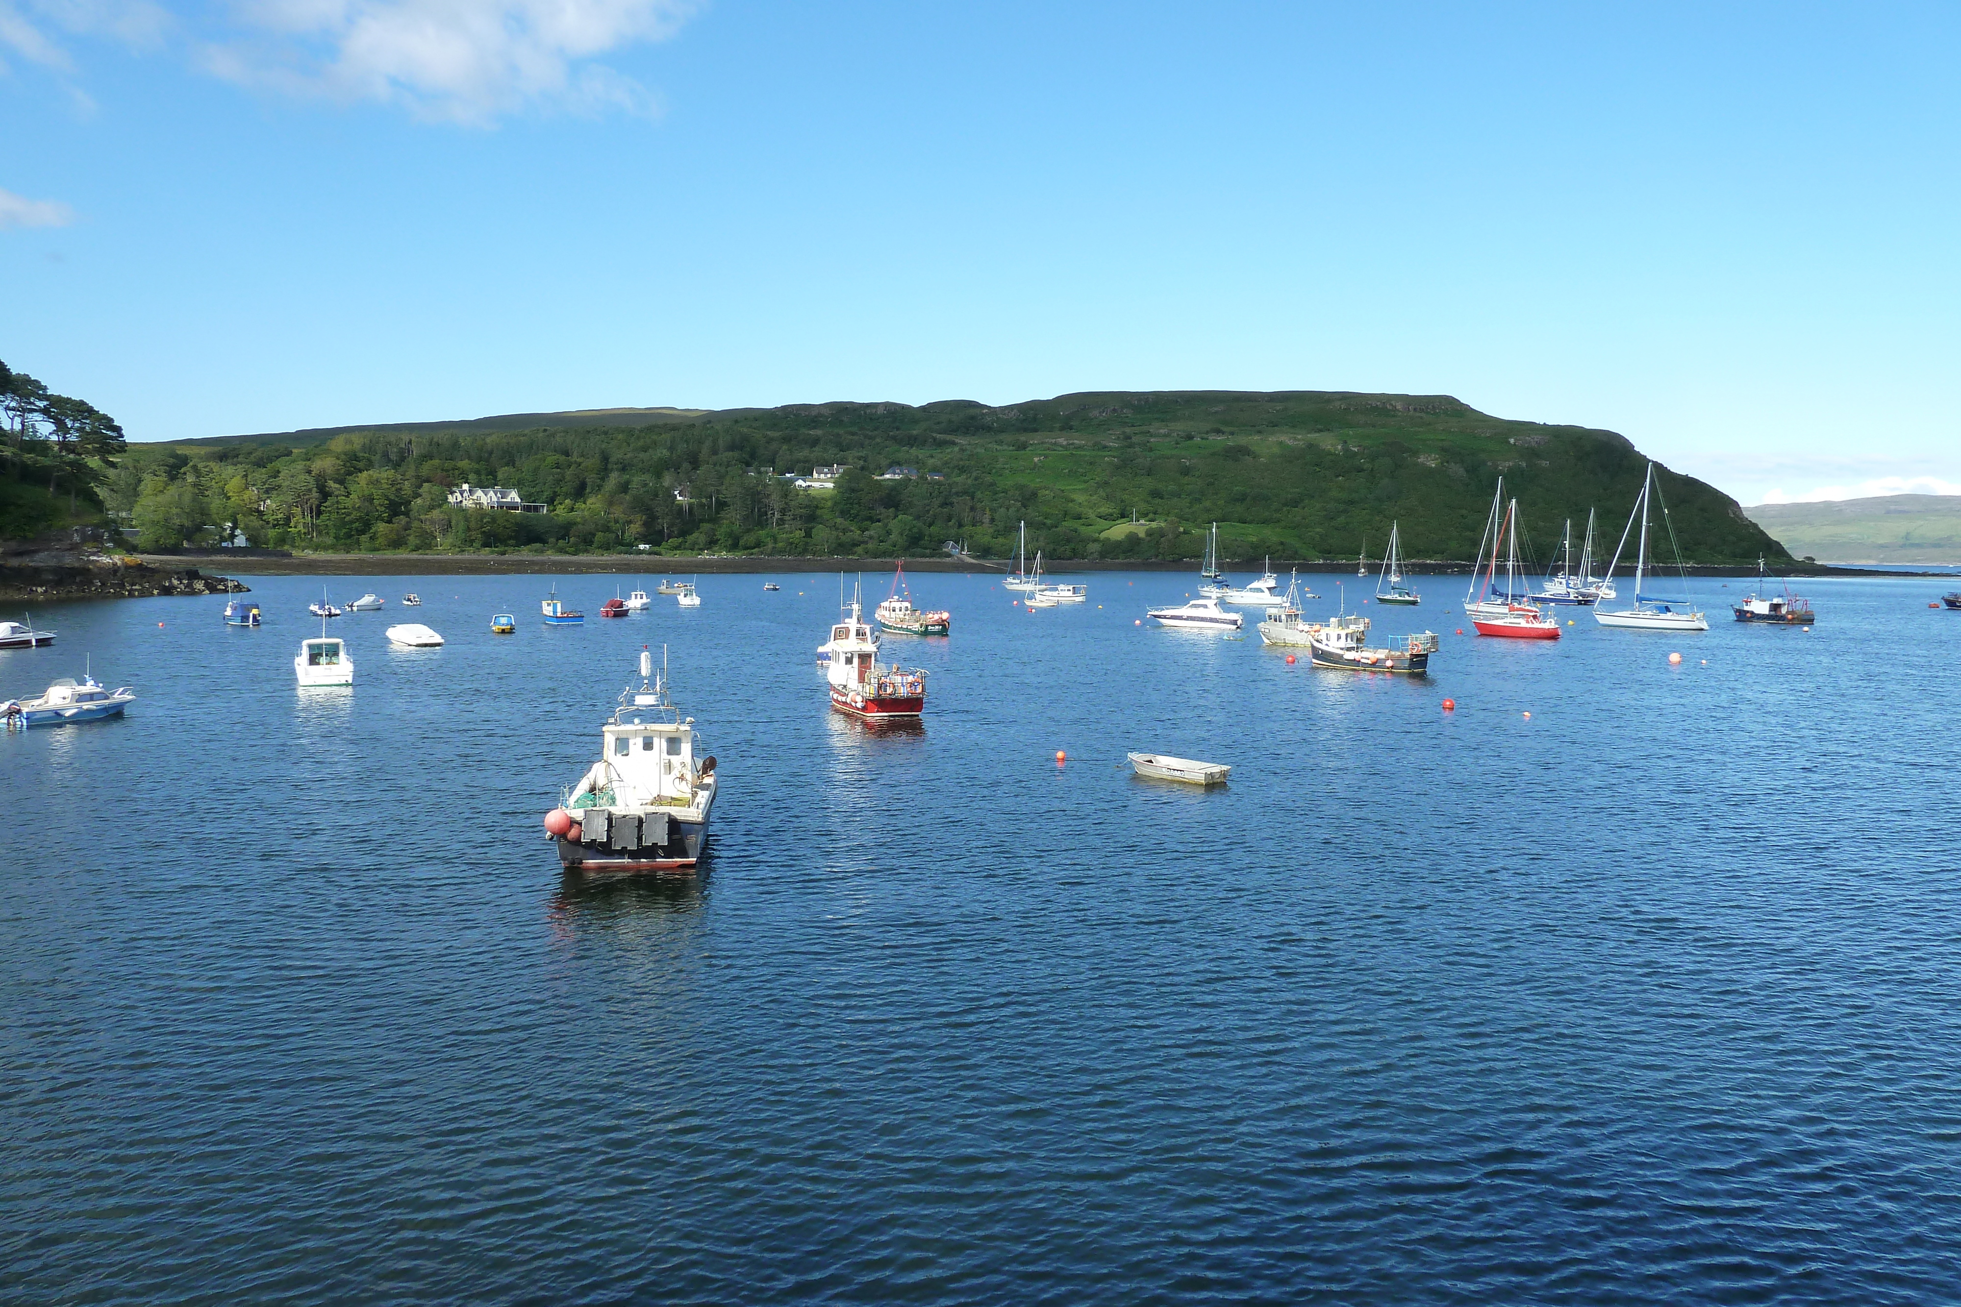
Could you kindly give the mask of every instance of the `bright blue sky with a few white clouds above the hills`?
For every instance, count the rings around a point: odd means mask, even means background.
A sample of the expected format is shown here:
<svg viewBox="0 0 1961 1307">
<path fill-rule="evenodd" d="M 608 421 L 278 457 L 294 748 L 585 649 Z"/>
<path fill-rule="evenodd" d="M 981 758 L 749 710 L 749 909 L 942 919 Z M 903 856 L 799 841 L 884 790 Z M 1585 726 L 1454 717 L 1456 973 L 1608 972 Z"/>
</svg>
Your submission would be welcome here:
<svg viewBox="0 0 1961 1307">
<path fill-rule="evenodd" d="M 1961 492 L 1961 10 L 0 0 L 0 359 L 133 439 L 1455 394 Z"/>
</svg>

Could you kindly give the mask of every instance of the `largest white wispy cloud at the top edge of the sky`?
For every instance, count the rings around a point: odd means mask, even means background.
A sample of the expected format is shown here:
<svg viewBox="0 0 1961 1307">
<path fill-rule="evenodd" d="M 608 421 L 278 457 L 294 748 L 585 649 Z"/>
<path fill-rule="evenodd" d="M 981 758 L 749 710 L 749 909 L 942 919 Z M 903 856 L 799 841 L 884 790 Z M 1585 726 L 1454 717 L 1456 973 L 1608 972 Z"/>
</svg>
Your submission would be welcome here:
<svg viewBox="0 0 1961 1307">
<path fill-rule="evenodd" d="M 645 112 L 596 57 L 671 37 L 692 0 L 239 0 L 208 41 L 218 76 L 286 94 L 398 104 L 488 123 L 524 108 Z"/>
</svg>

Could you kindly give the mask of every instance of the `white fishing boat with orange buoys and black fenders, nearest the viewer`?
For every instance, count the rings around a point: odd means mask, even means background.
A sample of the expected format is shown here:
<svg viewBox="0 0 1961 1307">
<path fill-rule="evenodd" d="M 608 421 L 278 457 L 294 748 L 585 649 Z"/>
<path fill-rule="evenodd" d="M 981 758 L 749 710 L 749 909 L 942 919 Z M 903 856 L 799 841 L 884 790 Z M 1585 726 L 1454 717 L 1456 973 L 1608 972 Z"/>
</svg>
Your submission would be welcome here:
<svg viewBox="0 0 1961 1307">
<path fill-rule="evenodd" d="M 700 758 L 694 717 L 667 698 L 667 672 L 639 653 L 639 690 L 628 686 L 600 727 L 600 760 L 545 813 L 559 860 L 577 872 L 684 872 L 708 847 L 716 760 Z"/>
</svg>

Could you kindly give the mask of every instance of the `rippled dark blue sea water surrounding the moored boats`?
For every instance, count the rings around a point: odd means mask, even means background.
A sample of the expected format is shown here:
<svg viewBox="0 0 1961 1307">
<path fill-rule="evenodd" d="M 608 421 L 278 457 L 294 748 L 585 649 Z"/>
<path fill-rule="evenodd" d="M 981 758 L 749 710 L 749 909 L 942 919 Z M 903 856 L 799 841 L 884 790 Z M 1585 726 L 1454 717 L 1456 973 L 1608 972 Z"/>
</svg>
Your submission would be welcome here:
<svg viewBox="0 0 1961 1307">
<path fill-rule="evenodd" d="M 0 1299 L 1961 1299 L 1937 584 L 1547 647 L 1420 578 L 1412 682 L 1135 627 L 1182 576 L 933 574 L 930 719 L 877 735 L 835 576 L 779 580 L 545 629 L 541 578 L 329 578 L 390 600 L 351 694 L 292 684 L 318 578 L 259 631 L 41 609 L 0 696 L 143 698 L 0 737 Z M 641 645 L 712 864 L 569 878 L 539 817 Z"/>
</svg>

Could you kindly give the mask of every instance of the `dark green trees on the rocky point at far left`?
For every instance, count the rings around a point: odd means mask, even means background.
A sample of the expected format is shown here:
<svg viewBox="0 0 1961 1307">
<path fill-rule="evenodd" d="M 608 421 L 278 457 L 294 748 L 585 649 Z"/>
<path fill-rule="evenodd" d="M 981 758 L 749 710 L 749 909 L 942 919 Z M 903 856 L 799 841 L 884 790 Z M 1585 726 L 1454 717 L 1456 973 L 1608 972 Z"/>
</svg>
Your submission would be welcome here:
<svg viewBox="0 0 1961 1307">
<path fill-rule="evenodd" d="M 98 521 L 98 486 L 124 451 L 116 419 L 0 363 L 0 539 Z"/>
</svg>

